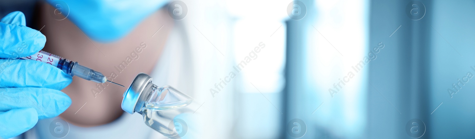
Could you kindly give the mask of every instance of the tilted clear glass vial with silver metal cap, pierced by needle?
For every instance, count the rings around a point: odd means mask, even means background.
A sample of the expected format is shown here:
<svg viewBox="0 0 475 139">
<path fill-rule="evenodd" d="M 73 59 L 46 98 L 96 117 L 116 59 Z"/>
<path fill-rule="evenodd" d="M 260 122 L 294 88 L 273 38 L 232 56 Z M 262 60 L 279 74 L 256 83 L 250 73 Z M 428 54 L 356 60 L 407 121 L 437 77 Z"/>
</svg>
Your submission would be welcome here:
<svg viewBox="0 0 475 139">
<path fill-rule="evenodd" d="M 166 137 L 180 138 L 186 134 L 187 125 L 175 118 L 183 113 L 193 113 L 186 107 L 192 101 L 193 98 L 171 86 L 154 85 L 152 77 L 140 73 L 123 94 L 122 109 L 131 114 L 142 114 L 145 124 Z"/>
</svg>

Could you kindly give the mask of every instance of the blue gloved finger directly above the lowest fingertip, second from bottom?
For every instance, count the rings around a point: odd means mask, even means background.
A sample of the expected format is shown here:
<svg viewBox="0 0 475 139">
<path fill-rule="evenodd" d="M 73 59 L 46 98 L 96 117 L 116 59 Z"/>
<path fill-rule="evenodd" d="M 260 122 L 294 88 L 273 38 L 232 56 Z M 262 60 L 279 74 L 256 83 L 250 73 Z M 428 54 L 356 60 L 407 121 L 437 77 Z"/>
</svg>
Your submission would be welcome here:
<svg viewBox="0 0 475 139">
<path fill-rule="evenodd" d="M 71 98 L 61 91 L 48 88 L 0 88 L 0 112 L 17 108 L 34 108 L 38 119 L 53 118 L 63 113 Z"/>
</svg>

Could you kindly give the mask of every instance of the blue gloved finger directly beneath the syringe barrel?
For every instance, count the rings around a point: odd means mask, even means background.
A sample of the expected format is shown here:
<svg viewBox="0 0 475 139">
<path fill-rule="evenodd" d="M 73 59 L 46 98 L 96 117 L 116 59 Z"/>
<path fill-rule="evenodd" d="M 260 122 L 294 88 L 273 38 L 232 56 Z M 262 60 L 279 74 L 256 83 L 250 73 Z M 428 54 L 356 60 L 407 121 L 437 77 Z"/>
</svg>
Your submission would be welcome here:
<svg viewBox="0 0 475 139">
<path fill-rule="evenodd" d="M 71 81 L 70 75 L 47 63 L 0 59 L 0 88 L 44 87 L 61 90 Z"/>
</svg>

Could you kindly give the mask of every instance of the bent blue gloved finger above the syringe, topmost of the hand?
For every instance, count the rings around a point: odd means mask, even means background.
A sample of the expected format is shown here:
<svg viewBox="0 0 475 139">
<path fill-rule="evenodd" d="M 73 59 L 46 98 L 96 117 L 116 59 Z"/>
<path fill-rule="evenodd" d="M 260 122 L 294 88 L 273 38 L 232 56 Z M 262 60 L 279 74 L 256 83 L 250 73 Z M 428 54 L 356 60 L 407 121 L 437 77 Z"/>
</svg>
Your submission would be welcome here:
<svg viewBox="0 0 475 139">
<path fill-rule="evenodd" d="M 45 46 L 46 36 L 25 26 L 22 12 L 12 12 L 0 21 L 0 58 L 30 56 Z"/>
</svg>

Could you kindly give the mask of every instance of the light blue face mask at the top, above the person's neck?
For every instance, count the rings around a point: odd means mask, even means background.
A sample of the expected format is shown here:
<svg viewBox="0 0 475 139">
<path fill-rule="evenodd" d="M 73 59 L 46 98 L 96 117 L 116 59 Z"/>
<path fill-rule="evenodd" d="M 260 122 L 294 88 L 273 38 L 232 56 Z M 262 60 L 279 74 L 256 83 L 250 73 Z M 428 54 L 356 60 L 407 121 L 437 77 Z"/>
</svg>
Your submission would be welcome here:
<svg viewBox="0 0 475 139">
<path fill-rule="evenodd" d="M 47 1 L 87 36 L 101 43 L 112 42 L 129 34 L 145 17 L 168 2 L 168 0 L 62 0 L 64 3 L 58 0 Z"/>
</svg>

